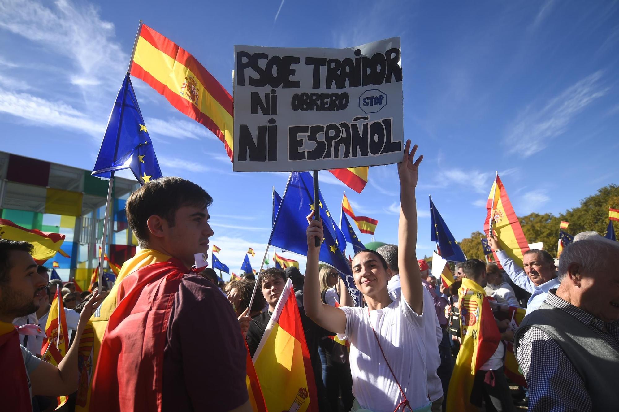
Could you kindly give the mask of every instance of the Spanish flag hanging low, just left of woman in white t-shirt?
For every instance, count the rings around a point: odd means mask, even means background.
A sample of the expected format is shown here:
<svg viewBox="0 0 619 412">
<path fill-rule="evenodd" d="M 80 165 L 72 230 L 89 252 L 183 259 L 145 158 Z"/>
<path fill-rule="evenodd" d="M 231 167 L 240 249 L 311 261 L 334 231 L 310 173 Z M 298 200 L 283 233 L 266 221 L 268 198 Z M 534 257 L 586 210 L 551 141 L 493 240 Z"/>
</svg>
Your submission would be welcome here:
<svg viewBox="0 0 619 412">
<path fill-rule="evenodd" d="M 290 279 L 253 360 L 267 410 L 318 412 L 314 372 Z"/>
</svg>

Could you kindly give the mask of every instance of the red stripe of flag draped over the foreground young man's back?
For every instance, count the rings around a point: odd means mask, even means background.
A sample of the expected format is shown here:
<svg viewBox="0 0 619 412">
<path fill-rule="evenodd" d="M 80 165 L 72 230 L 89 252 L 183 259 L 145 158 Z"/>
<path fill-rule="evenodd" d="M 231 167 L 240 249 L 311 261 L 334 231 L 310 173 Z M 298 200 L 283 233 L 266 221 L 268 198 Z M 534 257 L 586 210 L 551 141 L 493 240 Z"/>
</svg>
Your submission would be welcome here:
<svg viewBox="0 0 619 412">
<path fill-rule="evenodd" d="M 168 322 L 188 272 L 172 258 L 123 280 L 99 350 L 91 411 L 161 411 Z"/>
</svg>

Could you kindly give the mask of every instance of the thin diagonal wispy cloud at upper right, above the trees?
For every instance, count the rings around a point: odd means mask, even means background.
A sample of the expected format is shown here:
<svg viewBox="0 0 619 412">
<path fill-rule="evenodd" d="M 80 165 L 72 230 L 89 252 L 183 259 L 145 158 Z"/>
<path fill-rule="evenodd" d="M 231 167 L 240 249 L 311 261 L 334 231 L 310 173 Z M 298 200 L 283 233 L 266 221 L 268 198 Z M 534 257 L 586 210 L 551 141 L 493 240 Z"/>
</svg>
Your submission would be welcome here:
<svg viewBox="0 0 619 412">
<path fill-rule="evenodd" d="M 610 89 L 601 84 L 602 75 L 602 71 L 597 71 L 579 80 L 542 108 L 529 106 L 525 109 L 504 138 L 504 143 L 511 147 L 509 151 L 529 157 L 563 134 L 577 114 Z"/>
</svg>

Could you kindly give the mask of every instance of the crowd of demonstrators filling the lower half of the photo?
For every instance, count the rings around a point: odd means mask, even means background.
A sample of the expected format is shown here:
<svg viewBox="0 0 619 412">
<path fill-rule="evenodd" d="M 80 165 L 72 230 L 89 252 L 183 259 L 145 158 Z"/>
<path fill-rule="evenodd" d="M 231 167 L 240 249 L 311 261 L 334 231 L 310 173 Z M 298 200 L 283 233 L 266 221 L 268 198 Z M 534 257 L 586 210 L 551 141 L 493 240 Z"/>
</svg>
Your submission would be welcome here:
<svg viewBox="0 0 619 412">
<path fill-rule="evenodd" d="M 256 353 L 290 280 L 321 412 L 449 410 L 467 288 L 491 307 L 486 316 L 500 338 L 475 369 L 465 401 L 515 410 L 504 372 L 511 342 L 529 410 L 617 410 L 619 243 L 583 233 L 558 267 L 547 252 L 530 250 L 521 268 L 489 236 L 502 269 L 469 259 L 444 285 L 416 256 L 423 158 L 415 159 L 416 150 L 407 142 L 398 165 L 398 244 L 352 258 L 363 306 L 335 268 L 319 264 L 322 223 L 313 212 L 305 274 L 268 268 L 223 285 L 210 268 L 192 270 L 194 254 L 213 235 L 212 198 L 180 178 L 150 181 L 129 197 L 128 223 L 140 247 L 109 292 L 78 293 L 71 282 L 50 281 L 31 244 L 0 239 L 0 409 L 54 410 L 56 397 L 72 394 L 65 410 L 251 411 L 247 351 Z M 27 332 L 30 325 L 45 330 L 56 293 L 71 330 L 58 366 L 40 359 L 43 334 Z M 509 307 L 526 308 L 515 330 L 504 315 Z M 91 346 L 78 362 L 78 348 Z"/>
</svg>

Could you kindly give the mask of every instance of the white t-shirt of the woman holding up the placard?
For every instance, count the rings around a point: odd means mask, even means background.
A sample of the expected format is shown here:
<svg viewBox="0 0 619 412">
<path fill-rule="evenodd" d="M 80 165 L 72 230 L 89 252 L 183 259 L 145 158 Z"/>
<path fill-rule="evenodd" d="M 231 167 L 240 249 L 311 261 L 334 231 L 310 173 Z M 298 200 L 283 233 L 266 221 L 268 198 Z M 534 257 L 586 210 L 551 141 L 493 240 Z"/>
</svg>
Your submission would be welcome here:
<svg viewBox="0 0 619 412">
<path fill-rule="evenodd" d="M 370 311 L 369 315 L 367 307 L 339 308 L 346 314 L 346 332 L 338 337 L 350 341 L 352 393 L 361 408 L 374 412 L 393 412 L 403 398 L 371 325 L 410 406 L 421 408 L 430 403 L 423 328 L 426 313 L 435 312 L 424 309 L 422 315 L 417 315 L 400 297 L 396 291 L 396 300 L 383 309 Z"/>
</svg>

